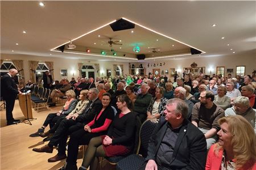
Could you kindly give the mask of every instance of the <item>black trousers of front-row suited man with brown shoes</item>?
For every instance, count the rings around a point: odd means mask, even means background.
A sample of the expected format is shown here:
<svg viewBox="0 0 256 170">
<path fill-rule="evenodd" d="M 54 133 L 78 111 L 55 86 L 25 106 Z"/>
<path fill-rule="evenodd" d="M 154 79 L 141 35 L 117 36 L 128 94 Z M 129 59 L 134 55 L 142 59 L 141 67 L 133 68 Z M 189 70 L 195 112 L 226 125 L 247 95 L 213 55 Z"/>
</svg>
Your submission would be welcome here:
<svg viewBox="0 0 256 170">
<path fill-rule="evenodd" d="M 74 126 L 74 125 L 76 125 L 76 126 Z M 84 125 L 82 123 L 80 123 L 80 122 L 74 121 L 73 119 L 68 119 L 68 120 L 67 119 L 63 119 L 60 122 L 60 125 L 57 128 L 57 130 L 55 131 L 54 135 L 52 136 L 51 140 L 49 141 L 48 146 L 49 147 L 53 147 L 53 146 L 57 146 L 57 144 L 59 144 L 58 148 L 61 148 L 61 147 L 65 148 L 66 143 L 67 143 L 67 139 L 68 139 L 68 134 L 70 133 L 69 132 L 69 128 L 71 126 L 73 126 L 70 129 L 70 131 L 72 132 L 72 131 L 79 130 Z M 63 153 L 60 153 L 60 154 L 63 154 Z"/>
</svg>

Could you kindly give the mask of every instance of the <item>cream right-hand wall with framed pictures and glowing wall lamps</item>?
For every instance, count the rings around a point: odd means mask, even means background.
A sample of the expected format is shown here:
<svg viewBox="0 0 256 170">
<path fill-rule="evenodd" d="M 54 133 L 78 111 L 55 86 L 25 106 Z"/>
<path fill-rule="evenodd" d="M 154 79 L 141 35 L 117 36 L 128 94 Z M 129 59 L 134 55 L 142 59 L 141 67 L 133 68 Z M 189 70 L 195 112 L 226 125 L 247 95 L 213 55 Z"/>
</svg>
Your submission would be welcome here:
<svg viewBox="0 0 256 170">
<path fill-rule="evenodd" d="M 245 65 L 245 74 L 251 74 L 254 70 L 256 70 L 256 54 L 255 51 L 243 53 L 243 54 L 234 54 L 230 56 L 219 56 L 219 57 L 198 57 L 198 58 L 188 58 L 188 59 L 172 59 L 172 60 L 155 60 L 148 61 L 142 63 L 143 67 L 146 68 L 146 73 L 152 73 L 152 69 L 161 69 L 167 70 L 170 74 L 170 68 L 175 68 L 175 71 L 179 71 L 180 76 L 183 73 L 183 68 L 190 68 L 191 64 L 195 62 L 197 67 L 205 67 L 205 74 L 212 75 L 216 74 L 216 67 L 225 67 L 225 75 L 228 73 L 226 69 L 233 69 L 232 76 L 236 75 L 236 67 Z M 156 66 L 151 67 L 151 64 L 159 64 L 162 63 L 162 67 Z M 166 63 L 163 65 L 163 63 Z M 141 63 L 131 63 L 136 67 Z M 147 67 L 147 65 L 150 67 Z"/>
</svg>

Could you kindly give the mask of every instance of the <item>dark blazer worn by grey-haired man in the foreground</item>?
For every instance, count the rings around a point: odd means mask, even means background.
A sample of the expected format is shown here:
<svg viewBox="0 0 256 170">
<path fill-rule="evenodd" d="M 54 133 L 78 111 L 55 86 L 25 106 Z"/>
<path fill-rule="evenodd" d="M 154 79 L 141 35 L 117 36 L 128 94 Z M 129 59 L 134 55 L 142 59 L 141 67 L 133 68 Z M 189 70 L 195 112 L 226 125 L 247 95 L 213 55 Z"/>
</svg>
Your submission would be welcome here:
<svg viewBox="0 0 256 170">
<path fill-rule="evenodd" d="M 167 121 L 161 117 L 148 143 L 145 161 L 156 160 L 156 154 L 167 130 Z M 203 132 L 184 119 L 176 140 L 170 169 L 205 169 L 207 143 Z"/>
</svg>

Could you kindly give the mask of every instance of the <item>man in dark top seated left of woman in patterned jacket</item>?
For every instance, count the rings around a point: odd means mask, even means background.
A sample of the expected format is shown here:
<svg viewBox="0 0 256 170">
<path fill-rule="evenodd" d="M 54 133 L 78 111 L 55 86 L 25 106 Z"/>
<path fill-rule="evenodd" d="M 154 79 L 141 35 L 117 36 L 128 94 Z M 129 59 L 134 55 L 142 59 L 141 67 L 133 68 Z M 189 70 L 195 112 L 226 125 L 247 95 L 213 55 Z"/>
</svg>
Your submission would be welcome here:
<svg viewBox="0 0 256 170">
<path fill-rule="evenodd" d="M 148 85 L 142 84 L 141 94 L 138 94 L 138 96 L 135 99 L 133 99 L 133 111 L 138 114 L 139 118 L 141 119 L 141 123 L 143 123 L 147 119 L 147 108 L 150 105 L 150 101 L 152 99 L 152 95 L 149 94 L 147 90 Z"/>
</svg>

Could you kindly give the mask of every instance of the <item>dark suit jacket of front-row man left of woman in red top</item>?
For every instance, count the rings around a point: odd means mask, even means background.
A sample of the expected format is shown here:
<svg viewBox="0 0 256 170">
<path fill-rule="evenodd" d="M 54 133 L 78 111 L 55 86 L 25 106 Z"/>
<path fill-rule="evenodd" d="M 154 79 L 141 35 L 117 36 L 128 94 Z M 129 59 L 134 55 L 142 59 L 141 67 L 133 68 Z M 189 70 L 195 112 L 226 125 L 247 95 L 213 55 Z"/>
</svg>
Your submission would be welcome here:
<svg viewBox="0 0 256 170">
<path fill-rule="evenodd" d="M 101 109 L 102 103 L 100 99 L 97 98 L 96 101 L 94 101 L 93 103 L 92 101 L 90 101 L 85 107 L 83 113 L 77 117 L 77 121 L 82 122 L 84 125 L 86 125 L 93 120 L 97 113 L 100 113 Z"/>
</svg>

